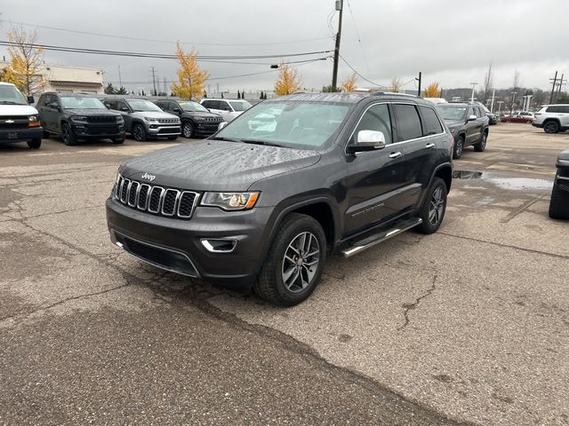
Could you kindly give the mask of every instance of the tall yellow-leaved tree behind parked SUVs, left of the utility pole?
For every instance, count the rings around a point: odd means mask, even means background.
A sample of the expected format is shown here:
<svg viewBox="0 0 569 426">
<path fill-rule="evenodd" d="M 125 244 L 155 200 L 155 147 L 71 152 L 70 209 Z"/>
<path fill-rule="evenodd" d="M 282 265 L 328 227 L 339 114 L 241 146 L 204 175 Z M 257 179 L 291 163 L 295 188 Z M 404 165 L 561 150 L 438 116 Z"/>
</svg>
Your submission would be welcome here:
<svg viewBox="0 0 569 426">
<path fill-rule="evenodd" d="M 197 51 L 184 52 L 177 45 L 176 56 L 180 62 L 178 69 L 179 83 L 172 83 L 172 93 L 181 99 L 196 100 L 204 94 L 204 83 L 209 78 L 210 73 L 200 69 L 197 65 Z"/>
</svg>

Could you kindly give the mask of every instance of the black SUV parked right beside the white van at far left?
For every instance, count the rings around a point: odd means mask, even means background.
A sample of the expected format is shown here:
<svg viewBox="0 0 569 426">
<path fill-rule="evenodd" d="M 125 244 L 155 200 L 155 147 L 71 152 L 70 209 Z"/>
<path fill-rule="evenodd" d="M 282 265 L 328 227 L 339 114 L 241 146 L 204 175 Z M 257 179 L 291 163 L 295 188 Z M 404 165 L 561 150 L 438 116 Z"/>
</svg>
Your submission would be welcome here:
<svg viewBox="0 0 569 426">
<path fill-rule="evenodd" d="M 124 120 L 121 114 L 108 111 L 99 99 L 80 93 L 46 92 L 37 101 L 44 126 L 44 138 L 60 135 L 65 145 L 79 140 L 112 139 L 124 142 Z"/>
</svg>

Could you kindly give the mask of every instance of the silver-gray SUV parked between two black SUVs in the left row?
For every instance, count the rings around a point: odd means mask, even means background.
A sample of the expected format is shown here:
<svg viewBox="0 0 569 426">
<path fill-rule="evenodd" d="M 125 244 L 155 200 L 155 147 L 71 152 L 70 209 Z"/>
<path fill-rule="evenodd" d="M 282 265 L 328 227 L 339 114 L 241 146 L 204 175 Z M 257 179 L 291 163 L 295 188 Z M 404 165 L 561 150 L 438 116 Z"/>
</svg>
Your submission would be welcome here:
<svg viewBox="0 0 569 426">
<path fill-rule="evenodd" d="M 123 115 L 124 130 L 138 141 L 158 137 L 174 140 L 180 135 L 180 119 L 147 99 L 103 99 L 103 103 Z"/>
</svg>

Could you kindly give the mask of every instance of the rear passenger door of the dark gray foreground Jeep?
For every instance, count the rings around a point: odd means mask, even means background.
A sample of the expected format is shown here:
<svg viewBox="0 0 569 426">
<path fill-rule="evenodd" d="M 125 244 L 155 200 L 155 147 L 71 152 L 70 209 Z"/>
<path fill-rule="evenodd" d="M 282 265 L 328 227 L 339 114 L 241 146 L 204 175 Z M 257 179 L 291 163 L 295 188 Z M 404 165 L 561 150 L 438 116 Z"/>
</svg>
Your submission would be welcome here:
<svg viewBox="0 0 569 426">
<path fill-rule="evenodd" d="M 421 118 L 419 125 L 421 125 L 422 136 L 407 140 L 404 144 L 403 174 L 405 177 L 405 193 L 402 198 L 401 209 L 411 209 L 417 207 L 421 202 L 421 194 L 430 183 L 433 165 L 437 164 L 439 156 L 438 150 L 442 147 L 443 138 L 446 138 L 445 128 L 434 108 L 430 106 L 417 106 L 415 111 L 408 106 L 405 106 L 405 111 L 403 111 L 403 106 L 396 105 L 395 107 L 397 120 L 399 115 L 411 115 L 408 120 L 413 120 L 415 122 L 413 125 L 416 126 L 417 120 L 414 118 L 414 114 L 417 114 L 417 111 Z M 397 126 L 398 131 L 399 126 Z M 414 131 L 414 134 L 416 133 L 418 131 Z M 413 133 L 409 136 L 413 136 Z"/>
</svg>

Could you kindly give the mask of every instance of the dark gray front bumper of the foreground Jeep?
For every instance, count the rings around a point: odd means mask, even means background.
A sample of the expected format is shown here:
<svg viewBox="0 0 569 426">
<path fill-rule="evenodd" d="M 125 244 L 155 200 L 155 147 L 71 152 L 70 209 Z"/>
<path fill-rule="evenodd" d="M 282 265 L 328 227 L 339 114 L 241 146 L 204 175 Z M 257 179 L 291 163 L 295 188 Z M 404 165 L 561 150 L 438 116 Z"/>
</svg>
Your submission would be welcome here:
<svg viewBox="0 0 569 426">
<path fill-rule="evenodd" d="M 106 209 L 111 240 L 118 242 L 133 256 L 165 270 L 227 287 L 250 288 L 264 260 L 272 212 L 270 208 L 226 212 L 217 208 L 197 207 L 193 217 L 188 220 L 141 212 L 112 198 L 107 200 Z M 128 239 L 134 241 L 134 249 L 128 248 Z M 202 239 L 233 240 L 236 246 L 228 253 L 212 253 L 204 247 Z M 144 258 L 144 253 L 140 251 L 142 248 L 134 247 L 136 244 L 146 245 L 150 250 L 148 256 L 152 257 Z M 170 257 L 156 261 L 152 249 L 162 249 Z M 172 253 L 180 256 L 172 256 Z M 189 261 L 185 267 L 179 267 L 178 264 L 178 261 L 183 263 L 182 257 Z M 191 272 L 190 264 L 196 273 Z"/>
</svg>

